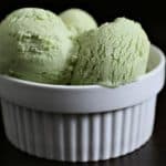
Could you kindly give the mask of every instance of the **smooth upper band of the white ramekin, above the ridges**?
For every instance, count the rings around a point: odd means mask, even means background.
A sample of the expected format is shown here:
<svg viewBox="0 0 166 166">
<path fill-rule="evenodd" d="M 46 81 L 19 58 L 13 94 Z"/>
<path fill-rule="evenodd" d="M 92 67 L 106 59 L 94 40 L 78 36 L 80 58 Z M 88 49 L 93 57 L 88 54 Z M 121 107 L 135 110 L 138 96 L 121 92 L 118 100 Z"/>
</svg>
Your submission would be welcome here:
<svg viewBox="0 0 166 166">
<path fill-rule="evenodd" d="M 100 85 L 50 85 L 0 76 L 0 95 L 15 104 L 54 113 L 107 112 L 138 104 L 156 95 L 164 84 L 165 59 L 151 48 L 151 72 L 136 82 L 110 89 Z"/>
</svg>

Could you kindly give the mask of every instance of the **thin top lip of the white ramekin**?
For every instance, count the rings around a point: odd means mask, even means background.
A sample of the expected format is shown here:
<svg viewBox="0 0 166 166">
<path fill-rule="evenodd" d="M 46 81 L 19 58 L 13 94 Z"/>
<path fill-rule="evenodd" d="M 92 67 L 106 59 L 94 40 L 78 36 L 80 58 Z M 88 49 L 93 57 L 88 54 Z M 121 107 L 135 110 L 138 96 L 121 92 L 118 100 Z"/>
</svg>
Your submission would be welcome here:
<svg viewBox="0 0 166 166">
<path fill-rule="evenodd" d="M 117 87 L 108 87 L 108 89 L 125 87 L 126 85 L 134 84 L 136 82 L 148 79 L 152 75 L 155 75 L 165 65 L 166 60 L 165 60 L 165 56 L 164 56 L 164 52 L 159 48 L 157 48 L 154 44 L 151 44 L 151 49 L 153 49 L 159 55 L 159 63 L 156 65 L 156 68 L 154 68 L 148 73 L 137 77 L 134 82 L 131 82 L 131 83 L 127 83 L 127 84 L 124 84 L 124 85 L 120 85 Z M 107 86 L 97 85 L 97 84 L 94 84 L 94 85 L 56 85 L 56 84 L 48 84 L 48 83 L 38 83 L 38 82 L 21 80 L 21 79 L 8 76 L 8 75 L 2 75 L 2 74 L 0 74 L 0 79 L 7 80 L 7 81 L 10 81 L 10 82 L 13 82 L 13 83 L 29 85 L 29 86 L 54 89 L 54 90 L 89 90 L 89 89 L 107 87 Z"/>
</svg>

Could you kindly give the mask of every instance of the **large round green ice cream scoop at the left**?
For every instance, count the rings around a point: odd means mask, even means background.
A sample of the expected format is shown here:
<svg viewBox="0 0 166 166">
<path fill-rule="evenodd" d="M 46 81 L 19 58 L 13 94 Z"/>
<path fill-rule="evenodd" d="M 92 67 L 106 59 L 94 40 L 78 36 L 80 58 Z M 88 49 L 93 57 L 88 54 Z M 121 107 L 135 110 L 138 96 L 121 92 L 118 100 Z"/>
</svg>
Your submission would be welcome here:
<svg viewBox="0 0 166 166">
<path fill-rule="evenodd" d="M 74 59 L 70 35 L 51 11 L 13 11 L 0 24 L 0 72 L 35 82 L 66 83 Z"/>
</svg>

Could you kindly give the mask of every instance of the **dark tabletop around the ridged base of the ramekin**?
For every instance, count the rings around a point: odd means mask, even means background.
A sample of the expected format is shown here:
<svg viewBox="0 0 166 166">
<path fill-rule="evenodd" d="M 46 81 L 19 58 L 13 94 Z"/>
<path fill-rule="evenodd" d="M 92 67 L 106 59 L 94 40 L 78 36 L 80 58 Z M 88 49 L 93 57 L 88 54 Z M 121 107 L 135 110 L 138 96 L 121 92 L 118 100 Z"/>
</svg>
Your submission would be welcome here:
<svg viewBox="0 0 166 166">
<path fill-rule="evenodd" d="M 151 141 L 141 149 L 118 159 L 89 164 L 50 162 L 29 156 L 14 148 L 6 138 L 0 123 L 0 166 L 166 166 L 166 94 L 158 96 L 156 123 Z M 1 120 L 1 118 L 0 118 Z M 1 122 L 1 121 L 0 121 Z"/>
</svg>

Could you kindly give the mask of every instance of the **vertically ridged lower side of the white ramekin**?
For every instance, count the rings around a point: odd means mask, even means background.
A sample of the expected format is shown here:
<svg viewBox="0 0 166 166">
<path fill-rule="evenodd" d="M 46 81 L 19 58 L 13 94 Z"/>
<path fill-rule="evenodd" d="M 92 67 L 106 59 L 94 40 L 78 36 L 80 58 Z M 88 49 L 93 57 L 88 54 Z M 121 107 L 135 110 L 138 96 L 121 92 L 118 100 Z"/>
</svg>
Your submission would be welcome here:
<svg viewBox="0 0 166 166">
<path fill-rule="evenodd" d="M 55 114 L 1 101 L 6 134 L 18 148 L 55 160 L 115 158 L 141 147 L 153 132 L 153 97 L 138 105 L 97 114 Z"/>
</svg>

